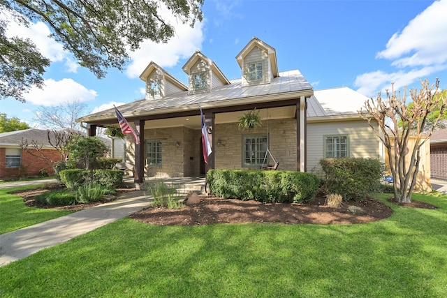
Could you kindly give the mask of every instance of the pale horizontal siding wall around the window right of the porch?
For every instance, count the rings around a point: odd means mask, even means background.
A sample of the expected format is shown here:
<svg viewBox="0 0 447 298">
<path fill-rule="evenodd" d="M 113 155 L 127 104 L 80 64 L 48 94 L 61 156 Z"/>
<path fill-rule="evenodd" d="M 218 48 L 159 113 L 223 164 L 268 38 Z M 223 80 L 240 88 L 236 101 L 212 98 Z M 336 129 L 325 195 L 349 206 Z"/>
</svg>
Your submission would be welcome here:
<svg viewBox="0 0 447 298">
<path fill-rule="evenodd" d="M 323 158 L 324 135 L 349 135 L 349 157 L 381 158 L 379 137 L 367 121 L 339 121 L 307 124 L 307 171 L 318 170 Z"/>
</svg>

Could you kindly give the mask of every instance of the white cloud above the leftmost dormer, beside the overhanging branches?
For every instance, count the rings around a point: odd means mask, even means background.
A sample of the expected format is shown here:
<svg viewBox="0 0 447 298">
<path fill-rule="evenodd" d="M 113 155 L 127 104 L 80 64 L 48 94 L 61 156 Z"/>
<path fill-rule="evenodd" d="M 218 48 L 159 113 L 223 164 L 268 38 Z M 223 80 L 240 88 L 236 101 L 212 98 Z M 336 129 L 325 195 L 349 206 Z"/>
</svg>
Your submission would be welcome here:
<svg viewBox="0 0 447 298">
<path fill-rule="evenodd" d="M 131 63 L 126 69 L 128 77 L 138 77 L 150 61 L 154 61 L 161 67 L 175 66 L 180 59 L 188 59 L 202 46 L 203 23 L 196 22 L 194 28 L 191 28 L 189 24 L 177 22 L 166 8 L 161 9 L 160 12 L 170 24 L 174 24 L 175 36 L 168 40 L 168 43 L 154 43 L 146 40 L 138 50 L 131 52 Z"/>
</svg>

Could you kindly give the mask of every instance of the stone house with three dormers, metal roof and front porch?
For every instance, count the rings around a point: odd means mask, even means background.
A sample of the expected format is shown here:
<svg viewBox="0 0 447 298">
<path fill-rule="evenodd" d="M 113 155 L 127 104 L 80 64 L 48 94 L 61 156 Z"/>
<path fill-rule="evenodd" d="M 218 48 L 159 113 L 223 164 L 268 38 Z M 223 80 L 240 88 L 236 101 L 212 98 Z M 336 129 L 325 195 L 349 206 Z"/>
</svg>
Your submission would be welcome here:
<svg viewBox="0 0 447 298">
<path fill-rule="evenodd" d="M 142 100 L 118 107 L 138 133 L 128 139 L 135 182 L 148 177 L 193 177 L 208 169 L 260 168 L 279 162 L 281 170 L 316 170 L 323 157 L 371 157 L 383 161 L 383 147 L 358 110 L 367 100 L 349 88 L 314 91 L 299 70 L 279 72 L 276 50 L 254 37 L 236 56 L 241 77 L 228 80 L 196 51 L 183 70 L 187 86 L 153 61 L 140 79 Z M 200 107 L 212 153 L 205 164 Z M 261 128 L 240 131 L 238 119 L 256 108 Z M 78 119 L 95 135 L 117 126 L 114 109 Z M 267 150 L 268 149 L 268 150 Z M 268 154 L 269 153 L 269 154 Z"/>
</svg>

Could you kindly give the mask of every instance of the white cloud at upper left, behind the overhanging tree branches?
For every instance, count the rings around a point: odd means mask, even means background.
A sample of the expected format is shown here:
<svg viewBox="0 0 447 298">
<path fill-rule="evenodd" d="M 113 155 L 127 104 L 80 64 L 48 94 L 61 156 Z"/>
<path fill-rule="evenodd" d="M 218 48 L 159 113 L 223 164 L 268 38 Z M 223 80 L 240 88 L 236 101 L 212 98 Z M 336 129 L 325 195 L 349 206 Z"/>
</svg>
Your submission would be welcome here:
<svg viewBox="0 0 447 298">
<path fill-rule="evenodd" d="M 0 18 L 3 20 L 9 20 L 8 27 L 6 29 L 6 36 L 13 37 L 18 36 L 20 38 L 29 38 L 36 44 L 38 50 L 52 62 L 65 61 L 68 72 L 75 73 L 79 67 L 70 54 L 66 52 L 60 43 L 57 43 L 54 39 L 50 38 L 50 29 L 43 22 L 31 23 L 29 27 L 25 27 L 22 24 L 18 24 L 13 21 L 8 12 L 0 14 Z"/>
</svg>

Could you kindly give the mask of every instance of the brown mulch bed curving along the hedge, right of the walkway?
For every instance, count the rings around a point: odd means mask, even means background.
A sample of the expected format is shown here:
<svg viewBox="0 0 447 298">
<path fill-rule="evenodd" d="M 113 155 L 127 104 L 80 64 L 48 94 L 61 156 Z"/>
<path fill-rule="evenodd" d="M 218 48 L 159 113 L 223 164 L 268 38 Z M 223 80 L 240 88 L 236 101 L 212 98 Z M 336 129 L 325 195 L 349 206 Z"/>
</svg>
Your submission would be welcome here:
<svg viewBox="0 0 447 298">
<path fill-rule="evenodd" d="M 388 218 L 393 209 L 378 200 L 343 203 L 342 207 L 324 206 L 317 197 L 305 204 L 261 203 L 200 196 L 200 202 L 183 209 L 147 208 L 131 218 L 154 225 L 210 225 L 213 223 L 367 223 Z M 353 214 L 349 206 L 360 207 L 362 214 Z"/>
</svg>

